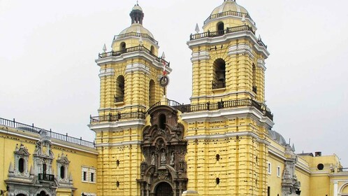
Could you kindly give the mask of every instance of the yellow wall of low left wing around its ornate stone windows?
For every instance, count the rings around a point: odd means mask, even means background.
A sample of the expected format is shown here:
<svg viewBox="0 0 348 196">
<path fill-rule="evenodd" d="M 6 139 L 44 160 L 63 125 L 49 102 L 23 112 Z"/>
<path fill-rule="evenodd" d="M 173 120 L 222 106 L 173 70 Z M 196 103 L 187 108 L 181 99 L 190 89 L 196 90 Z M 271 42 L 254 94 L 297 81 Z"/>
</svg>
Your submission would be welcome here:
<svg viewBox="0 0 348 196">
<path fill-rule="evenodd" d="M 30 167 L 34 167 L 33 153 L 35 150 L 36 141 L 38 141 L 39 135 L 31 132 L 26 132 L 22 130 L 16 130 L 11 127 L 4 127 L 0 125 L 0 189 L 6 190 L 6 183 L 4 180 L 8 179 L 8 168 L 10 167 L 10 162 L 14 166 L 14 151 L 15 146 L 18 144 L 23 144 L 29 151 L 28 160 L 28 172 L 30 172 Z M 68 174 L 71 173 L 73 176 L 73 187 L 78 188 L 73 192 L 73 195 L 80 196 L 82 192 L 84 193 L 96 193 L 96 183 L 82 183 L 81 181 L 81 167 L 88 166 L 96 168 L 96 156 L 97 152 L 94 148 L 88 148 L 85 146 L 70 144 L 66 141 L 59 141 L 57 139 L 52 139 L 53 145 L 51 146 L 52 152 L 55 155 L 55 159 L 52 162 L 52 169 L 54 175 L 57 176 L 57 157 L 59 154 L 64 153 L 68 156 L 70 161 Z M 57 192 L 63 192 L 64 189 Z M 66 190 L 65 190 L 66 192 Z M 69 194 L 70 195 L 70 194 Z"/>
</svg>

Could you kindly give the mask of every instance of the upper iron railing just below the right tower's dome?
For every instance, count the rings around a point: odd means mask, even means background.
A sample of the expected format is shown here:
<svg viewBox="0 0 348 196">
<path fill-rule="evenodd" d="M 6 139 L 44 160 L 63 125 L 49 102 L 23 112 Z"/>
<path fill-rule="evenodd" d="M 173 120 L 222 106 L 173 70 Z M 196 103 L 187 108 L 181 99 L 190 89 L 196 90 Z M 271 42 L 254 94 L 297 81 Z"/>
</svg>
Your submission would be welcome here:
<svg viewBox="0 0 348 196">
<path fill-rule="evenodd" d="M 228 27 L 224 30 L 221 31 L 207 31 L 201 34 L 191 34 L 189 39 L 190 40 L 195 40 L 198 38 L 206 38 L 206 37 L 217 37 L 217 36 L 222 36 L 224 34 L 229 34 L 229 33 L 234 33 L 234 32 L 239 32 L 239 31 L 251 31 L 252 34 L 255 34 L 255 31 L 252 29 L 252 27 L 249 27 L 248 25 L 242 25 L 238 27 Z"/>
</svg>

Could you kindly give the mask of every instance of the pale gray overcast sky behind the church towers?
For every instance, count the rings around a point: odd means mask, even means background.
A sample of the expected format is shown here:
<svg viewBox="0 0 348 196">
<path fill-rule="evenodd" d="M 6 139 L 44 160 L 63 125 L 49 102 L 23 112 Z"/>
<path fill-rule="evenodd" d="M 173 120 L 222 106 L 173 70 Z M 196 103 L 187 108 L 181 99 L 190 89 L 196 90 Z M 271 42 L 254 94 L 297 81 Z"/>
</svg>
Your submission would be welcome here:
<svg viewBox="0 0 348 196">
<path fill-rule="evenodd" d="M 173 68 L 169 99 L 189 103 L 186 41 L 222 2 L 140 0 L 143 25 Z M 291 138 L 297 153 L 336 153 L 348 167 L 348 1 L 237 2 L 271 54 L 266 103 L 275 115 L 273 130 Z M 94 59 L 131 25 L 135 3 L 0 0 L 0 117 L 92 141 L 89 114 L 99 108 Z"/>
</svg>

